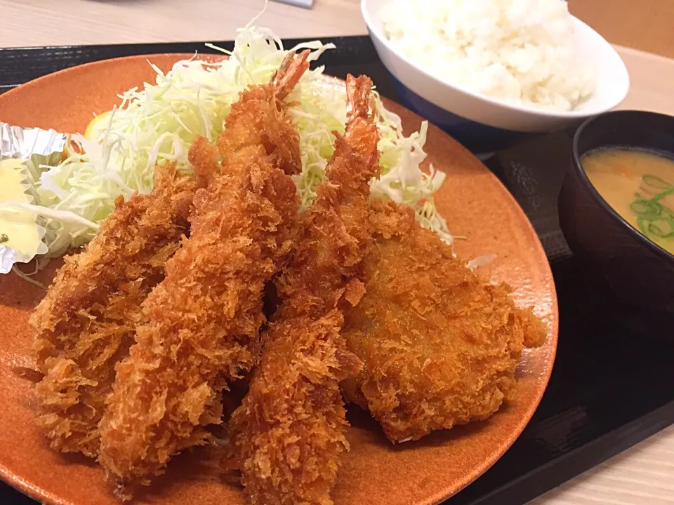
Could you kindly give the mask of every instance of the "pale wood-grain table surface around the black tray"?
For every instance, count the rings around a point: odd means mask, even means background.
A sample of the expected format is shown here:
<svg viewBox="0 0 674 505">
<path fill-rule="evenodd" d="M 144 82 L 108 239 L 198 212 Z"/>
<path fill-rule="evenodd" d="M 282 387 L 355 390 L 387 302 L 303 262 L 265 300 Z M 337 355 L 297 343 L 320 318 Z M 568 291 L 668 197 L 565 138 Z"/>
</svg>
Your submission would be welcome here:
<svg viewBox="0 0 674 505">
<path fill-rule="evenodd" d="M 261 0 L 0 0 L 0 47 L 229 40 L 263 4 Z M 358 0 L 315 0 L 311 10 L 270 2 L 258 25 L 282 37 L 366 33 Z M 627 48 L 619 51 L 632 77 L 623 107 L 674 114 L 674 60 Z M 674 504 L 674 426 L 531 502 L 542 504 Z"/>
</svg>

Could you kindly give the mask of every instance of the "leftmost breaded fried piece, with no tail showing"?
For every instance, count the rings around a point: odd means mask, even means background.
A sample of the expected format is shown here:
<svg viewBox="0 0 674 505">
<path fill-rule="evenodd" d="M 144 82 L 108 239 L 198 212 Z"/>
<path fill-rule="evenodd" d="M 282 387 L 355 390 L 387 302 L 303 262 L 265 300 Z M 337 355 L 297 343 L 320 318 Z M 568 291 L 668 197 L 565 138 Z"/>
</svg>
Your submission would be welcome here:
<svg viewBox="0 0 674 505">
<path fill-rule="evenodd" d="M 84 252 L 65 259 L 33 312 L 38 422 L 51 447 L 98 453 L 97 425 L 112 391 L 114 365 L 128 354 L 140 304 L 189 228 L 193 177 L 157 167 L 154 190 L 121 196 Z"/>
</svg>

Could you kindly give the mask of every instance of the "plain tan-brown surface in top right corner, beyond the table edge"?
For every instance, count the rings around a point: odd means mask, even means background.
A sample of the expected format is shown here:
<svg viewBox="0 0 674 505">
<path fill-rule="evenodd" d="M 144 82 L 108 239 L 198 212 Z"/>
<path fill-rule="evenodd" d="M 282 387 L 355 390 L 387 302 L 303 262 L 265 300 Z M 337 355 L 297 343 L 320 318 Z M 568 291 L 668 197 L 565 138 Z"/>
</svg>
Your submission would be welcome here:
<svg viewBox="0 0 674 505">
<path fill-rule="evenodd" d="M 674 58 L 674 0 L 568 0 L 609 42 Z"/>
</svg>

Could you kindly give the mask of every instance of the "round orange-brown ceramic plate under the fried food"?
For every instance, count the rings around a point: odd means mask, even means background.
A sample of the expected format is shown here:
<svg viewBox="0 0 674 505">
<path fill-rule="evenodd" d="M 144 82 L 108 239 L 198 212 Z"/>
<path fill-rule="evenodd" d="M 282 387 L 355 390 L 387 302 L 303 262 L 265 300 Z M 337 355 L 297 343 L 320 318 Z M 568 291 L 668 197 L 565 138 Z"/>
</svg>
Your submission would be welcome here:
<svg viewBox="0 0 674 505">
<path fill-rule="evenodd" d="M 95 62 L 57 72 L 0 96 L 0 121 L 20 126 L 82 132 L 94 113 L 119 102 L 117 93 L 154 81 L 146 60 L 162 70 L 191 55 L 153 55 Z M 329 86 L 342 86 L 328 79 Z M 415 114 L 392 102 L 409 130 Z M 486 471 L 520 435 L 534 413 L 553 368 L 557 348 L 557 299 L 541 243 L 508 191 L 461 145 L 437 128 L 428 130 L 430 162 L 447 173 L 437 206 L 451 231 L 468 238 L 457 253 L 497 253 L 481 267 L 508 281 L 522 305 L 534 304 L 548 324 L 541 349 L 525 352 L 517 375 L 520 395 L 486 422 L 434 433 L 416 443 L 393 446 L 362 412 L 350 412 L 351 452 L 333 493 L 336 505 L 430 505 L 461 490 Z M 55 267 L 41 273 L 49 281 Z M 47 504 L 114 504 L 103 471 L 84 457 L 48 449 L 34 424 L 32 383 L 17 370 L 30 365 L 28 315 L 44 291 L 14 275 L 0 276 L 0 478 Z M 242 492 L 226 483 L 213 464 L 213 451 L 194 450 L 171 463 L 140 503 L 243 504 Z"/>
</svg>

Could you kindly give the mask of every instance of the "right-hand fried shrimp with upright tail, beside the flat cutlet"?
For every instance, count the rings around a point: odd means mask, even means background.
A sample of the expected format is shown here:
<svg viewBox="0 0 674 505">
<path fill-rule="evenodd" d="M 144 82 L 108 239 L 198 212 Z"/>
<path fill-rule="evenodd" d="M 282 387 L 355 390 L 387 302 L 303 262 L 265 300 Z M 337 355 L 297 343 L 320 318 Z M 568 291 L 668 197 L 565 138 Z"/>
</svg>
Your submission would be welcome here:
<svg viewBox="0 0 674 505">
<path fill-rule="evenodd" d="M 326 180 L 303 216 L 303 236 L 276 282 L 281 304 L 263 336 L 248 395 L 229 424 L 234 459 L 254 505 L 328 505 L 348 449 L 339 382 L 359 360 L 340 335 L 363 295 L 371 243 L 369 180 L 378 173 L 372 82 L 348 76 L 348 121 Z"/>
</svg>

